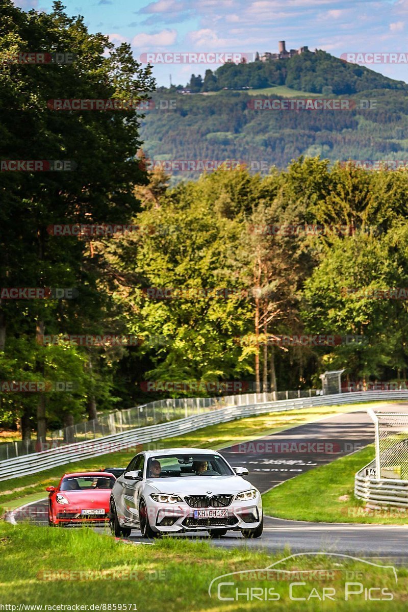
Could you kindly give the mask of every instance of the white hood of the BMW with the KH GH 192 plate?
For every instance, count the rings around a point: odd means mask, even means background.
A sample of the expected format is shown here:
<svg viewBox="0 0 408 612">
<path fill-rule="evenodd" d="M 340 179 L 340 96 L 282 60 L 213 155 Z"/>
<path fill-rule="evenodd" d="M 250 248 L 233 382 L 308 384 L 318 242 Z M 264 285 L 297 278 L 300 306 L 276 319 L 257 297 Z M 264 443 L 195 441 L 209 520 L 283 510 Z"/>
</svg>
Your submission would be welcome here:
<svg viewBox="0 0 408 612">
<path fill-rule="evenodd" d="M 220 493 L 236 494 L 253 489 L 248 480 L 240 476 L 182 476 L 175 478 L 149 478 L 150 487 L 158 493 L 177 495 L 217 495 Z M 211 491 L 209 493 L 208 491 Z"/>
</svg>

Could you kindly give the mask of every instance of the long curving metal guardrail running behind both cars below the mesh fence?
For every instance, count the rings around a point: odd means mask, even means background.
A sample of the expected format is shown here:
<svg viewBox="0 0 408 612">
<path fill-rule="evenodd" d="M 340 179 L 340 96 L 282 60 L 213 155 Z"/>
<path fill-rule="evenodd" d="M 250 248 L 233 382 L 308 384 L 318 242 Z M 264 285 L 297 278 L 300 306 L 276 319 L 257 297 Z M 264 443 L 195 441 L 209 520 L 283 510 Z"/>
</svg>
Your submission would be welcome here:
<svg viewBox="0 0 408 612">
<path fill-rule="evenodd" d="M 19 476 L 26 476 L 54 468 L 72 461 L 100 457 L 114 450 L 125 447 L 146 444 L 163 438 L 179 436 L 183 433 L 195 431 L 207 425 L 217 425 L 229 420 L 240 419 L 247 416 L 265 414 L 267 412 L 280 412 L 313 406 L 333 406 L 338 404 L 360 403 L 361 401 L 378 400 L 406 400 L 408 391 L 362 391 L 337 395 L 319 395 L 294 400 L 266 401 L 258 404 L 242 406 L 227 406 L 226 408 L 209 409 L 203 414 L 196 414 L 184 419 L 177 419 L 158 425 L 139 427 L 122 433 L 87 440 L 78 444 L 67 444 L 56 449 L 31 453 L 0 462 L 0 481 L 9 480 Z"/>
</svg>

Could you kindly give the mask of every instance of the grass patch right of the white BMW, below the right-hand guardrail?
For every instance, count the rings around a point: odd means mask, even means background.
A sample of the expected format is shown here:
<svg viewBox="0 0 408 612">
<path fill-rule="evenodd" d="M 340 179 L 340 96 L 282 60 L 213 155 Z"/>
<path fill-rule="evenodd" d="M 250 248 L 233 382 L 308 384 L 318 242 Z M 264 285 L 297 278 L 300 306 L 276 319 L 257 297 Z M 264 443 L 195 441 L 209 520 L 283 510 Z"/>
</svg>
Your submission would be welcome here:
<svg viewBox="0 0 408 612">
<path fill-rule="evenodd" d="M 354 475 L 374 459 L 370 444 L 347 457 L 286 480 L 262 495 L 265 514 L 299 521 L 325 523 L 405 524 L 407 512 L 365 509 L 354 497 Z"/>
</svg>

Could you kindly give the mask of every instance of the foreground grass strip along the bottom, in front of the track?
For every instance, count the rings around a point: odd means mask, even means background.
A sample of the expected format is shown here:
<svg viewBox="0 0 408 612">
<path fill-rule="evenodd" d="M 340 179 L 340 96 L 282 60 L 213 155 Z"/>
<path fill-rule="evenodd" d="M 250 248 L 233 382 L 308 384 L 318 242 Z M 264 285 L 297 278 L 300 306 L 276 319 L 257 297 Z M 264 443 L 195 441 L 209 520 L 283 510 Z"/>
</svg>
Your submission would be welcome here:
<svg viewBox="0 0 408 612">
<path fill-rule="evenodd" d="M 374 591 L 374 594 L 377 598 L 389 599 L 390 595 L 385 597 L 384 593 L 391 593 L 391 609 L 406 610 L 406 568 L 398 568 L 396 584 L 391 569 L 349 558 L 328 558 L 321 554 L 290 559 L 278 565 L 277 569 L 297 572 L 331 570 L 331 578 L 327 578 L 325 572 L 323 580 L 316 580 L 315 575 L 306 580 L 303 577 L 300 581 L 299 574 L 295 574 L 293 580 L 276 580 L 276 574 L 269 575 L 269 580 L 265 580 L 265 577 L 250 573 L 247 580 L 236 580 L 232 586 L 221 586 L 221 597 L 232 599 L 220 600 L 217 597 L 220 581 L 213 586 L 212 597 L 209 596 L 209 585 L 218 576 L 262 569 L 289 554 L 288 550 L 269 554 L 246 547 L 225 550 L 212 547 L 206 540 L 177 538 L 158 540 L 154 546 L 135 546 L 117 542 L 111 536 L 97 534 L 92 529 L 44 529 L 28 524 L 12 527 L 2 523 L 0 601 L 17 606 L 15 610 L 20 604 L 42 605 L 43 611 L 46 610 L 45 605 L 61 604 L 73 605 L 74 610 L 75 604 L 88 606 L 87 610 L 91 610 L 89 606 L 94 604 L 105 605 L 100 610 L 127 612 L 258 612 L 272 608 L 336 612 L 383 610 L 381 606 L 388 602 L 367 601 L 364 590 L 345 601 L 346 588 L 360 590 L 356 586 L 346 587 L 347 580 L 355 582 L 350 578 L 356 575 L 355 572 L 360 572 L 358 582 L 364 588 L 385 589 L 380 595 L 379 591 Z M 389 565 L 385 561 L 379 561 L 379 564 Z M 70 573 L 61 573 L 64 570 Z M 233 577 L 223 579 L 224 582 L 232 580 Z M 304 600 L 290 599 L 289 584 L 292 581 L 297 583 L 292 597 L 303 597 Z M 321 602 L 322 591 L 328 587 L 332 599 Z M 265 592 L 269 598 L 266 601 Z"/>
</svg>

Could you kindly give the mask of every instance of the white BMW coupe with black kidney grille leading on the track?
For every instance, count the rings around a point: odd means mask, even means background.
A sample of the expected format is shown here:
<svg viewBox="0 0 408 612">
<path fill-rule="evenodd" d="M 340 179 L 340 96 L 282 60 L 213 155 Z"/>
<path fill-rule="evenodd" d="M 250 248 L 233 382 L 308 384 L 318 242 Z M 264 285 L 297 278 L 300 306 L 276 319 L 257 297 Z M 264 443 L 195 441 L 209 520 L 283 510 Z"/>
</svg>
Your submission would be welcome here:
<svg viewBox="0 0 408 612">
<path fill-rule="evenodd" d="M 109 524 L 116 537 L 140 529 L 143 537 L 228 529 L 260 537 L 261 494 L 220 453 L 206 449 L 144 451 L 113 485 Z"/>
</svg>

